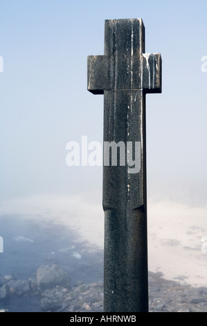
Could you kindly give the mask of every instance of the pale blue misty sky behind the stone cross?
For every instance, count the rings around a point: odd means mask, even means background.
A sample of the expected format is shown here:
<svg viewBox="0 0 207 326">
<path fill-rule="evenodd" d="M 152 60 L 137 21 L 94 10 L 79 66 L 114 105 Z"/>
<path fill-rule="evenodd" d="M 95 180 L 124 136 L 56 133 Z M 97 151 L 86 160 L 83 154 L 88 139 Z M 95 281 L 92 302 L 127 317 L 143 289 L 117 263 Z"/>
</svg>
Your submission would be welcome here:
<svg viewBox="0 0 207 326">
<path fill-rule="evenodd" d="M 87 55 L 103 54 L 105 19 L 142 18 L 146 53 L 163 60 L 163 93 L 147 95 L 148 193 L 203 205 L 206 12 L 206 0 L 0 0 L 0 200 L 101 191 L 102 168 L 66 166 L 66 143 L 102 141 Z"/>
</svg>

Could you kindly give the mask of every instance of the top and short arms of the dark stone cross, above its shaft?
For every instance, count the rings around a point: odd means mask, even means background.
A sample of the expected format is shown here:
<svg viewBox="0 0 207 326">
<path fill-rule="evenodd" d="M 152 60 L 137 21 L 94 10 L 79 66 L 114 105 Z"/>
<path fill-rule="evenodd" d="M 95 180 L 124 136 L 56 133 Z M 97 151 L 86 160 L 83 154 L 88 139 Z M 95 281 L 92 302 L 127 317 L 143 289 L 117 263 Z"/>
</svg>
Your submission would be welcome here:
<svg viewBox="0 0 207 326">
<path fill-rule="evenodd" d="M 88 57 L 88 90 L 143 89 L 161 93 L 161 55 L 145 53 L 143 20 L 105 21 L 105 54 Z"/>
</svg>

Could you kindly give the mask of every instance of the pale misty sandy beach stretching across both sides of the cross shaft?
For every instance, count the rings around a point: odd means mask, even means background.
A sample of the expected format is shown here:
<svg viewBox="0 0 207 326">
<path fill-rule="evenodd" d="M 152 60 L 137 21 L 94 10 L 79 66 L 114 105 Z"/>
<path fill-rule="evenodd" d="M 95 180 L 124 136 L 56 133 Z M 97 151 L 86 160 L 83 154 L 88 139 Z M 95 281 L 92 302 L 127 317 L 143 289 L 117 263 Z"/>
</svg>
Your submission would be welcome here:
<svg viewBox="0 0 207 326">
<path fill-rule="evenodd" d="M 163 273 L 168 280 L 207 286 L 207 207 L 148 200 L 147 209 L 149 270 Z M 7 200 L 1 203 L 3 214 L 61 223 L 78 231 L 91 250 L 103 248 L 100 194 Z"/>
</svg>

